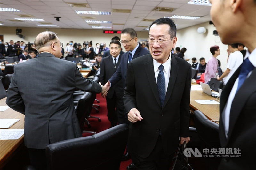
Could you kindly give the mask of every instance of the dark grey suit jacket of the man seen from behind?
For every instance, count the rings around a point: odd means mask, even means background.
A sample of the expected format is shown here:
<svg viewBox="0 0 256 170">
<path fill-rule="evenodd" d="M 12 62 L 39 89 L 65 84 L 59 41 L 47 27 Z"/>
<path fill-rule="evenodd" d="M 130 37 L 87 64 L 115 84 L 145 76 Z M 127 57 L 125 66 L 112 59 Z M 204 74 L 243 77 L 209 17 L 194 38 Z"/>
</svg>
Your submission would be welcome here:
<svg viewBox="0 0 256 170">
<path fill-rule="evenodd" d="M 25 115 L 25 146 L 45 149 L 49 141 L 82 136 L 73 103 L 76 89 L 102 91 L 98 83 L 81 75 L 76 63 L 50 53 L 14 66 L 6 104 Z"/>
</svg>

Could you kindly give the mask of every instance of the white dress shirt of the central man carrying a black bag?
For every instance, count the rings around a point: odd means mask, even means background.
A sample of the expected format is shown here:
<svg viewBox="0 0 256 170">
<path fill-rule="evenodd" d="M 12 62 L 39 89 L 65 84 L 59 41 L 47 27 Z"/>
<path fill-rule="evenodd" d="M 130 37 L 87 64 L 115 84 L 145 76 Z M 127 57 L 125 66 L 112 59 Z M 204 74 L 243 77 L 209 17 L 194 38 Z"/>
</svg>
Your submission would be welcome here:
<svg viewBox="0 0 256 170">
<path fill-rule="evenodd" d="M 170 72 L 171 72 L 171 53 L 168 58 L 168 60 L 163 63 L 162 65 L 164 66 L 164 80 L 165 80 L 165 94 L 167 92 L 168 84 L 169 84 L 169 78 L 170 78 Z M 154 71 L 155 71 L 155 77 L 156 77 L 156 82 L 157 82 L 157 77 L 159 74 L 159 69 L 158 67 L 161 65 L 161 63 L 158 63 L 155 59 L 153 59 L 153 65 L 154 65 Z"/>
</svg>

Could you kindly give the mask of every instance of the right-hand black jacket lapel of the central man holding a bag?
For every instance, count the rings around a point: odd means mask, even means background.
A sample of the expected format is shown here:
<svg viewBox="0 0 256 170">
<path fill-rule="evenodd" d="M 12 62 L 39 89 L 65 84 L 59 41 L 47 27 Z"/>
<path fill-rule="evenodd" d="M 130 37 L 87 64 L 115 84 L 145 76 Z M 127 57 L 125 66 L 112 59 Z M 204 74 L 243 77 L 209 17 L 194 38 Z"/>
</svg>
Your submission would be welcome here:
<svg viewBox="0 0 256 170">
<path fill-rule="evenodd" d="M 166 105 L 167 101 L 171 97 L 172 89 L 175 85 L 178 70 L 179 70 L 178 62 L 175 59 L 175 57 L 171 54 L 171 70 L 170 70 L 168 88 L 167 88 L 167 92 L 166 92 L 165 100 L 164 100 L 164 106 Z M 164 108 L 164 106 L 163 106 L 163 108 Z"/>
</svg>

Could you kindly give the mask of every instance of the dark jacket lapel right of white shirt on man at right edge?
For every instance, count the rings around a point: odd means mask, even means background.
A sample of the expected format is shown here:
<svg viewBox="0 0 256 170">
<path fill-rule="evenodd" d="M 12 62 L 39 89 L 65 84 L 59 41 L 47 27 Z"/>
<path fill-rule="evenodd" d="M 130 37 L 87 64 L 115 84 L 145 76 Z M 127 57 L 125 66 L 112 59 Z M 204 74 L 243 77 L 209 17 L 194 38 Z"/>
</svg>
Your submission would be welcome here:
<svg viewBox="0 0 256 170">
<path fill-rule="evenodd" d="M 256 85 L 256 69 L 254 68 L 250 77 L 244 81 L 244 84 L 237 91 L 234 97 L 234 100 L 232 102 L 231 110 L 230 110 L 230 113 L 232 113 L 232 115 L 230 114 L 230 119 L 229 119 L 227 143 L 228 143 L 228 140 L 230 139 L 230 136 L 236 124 L 237 118 L 242 112 L 242 109 L 244 108 L 244 105 L 247 99 L 251 96 L 253 92 L 256 91 L 255 85 Z"/>
</svg>

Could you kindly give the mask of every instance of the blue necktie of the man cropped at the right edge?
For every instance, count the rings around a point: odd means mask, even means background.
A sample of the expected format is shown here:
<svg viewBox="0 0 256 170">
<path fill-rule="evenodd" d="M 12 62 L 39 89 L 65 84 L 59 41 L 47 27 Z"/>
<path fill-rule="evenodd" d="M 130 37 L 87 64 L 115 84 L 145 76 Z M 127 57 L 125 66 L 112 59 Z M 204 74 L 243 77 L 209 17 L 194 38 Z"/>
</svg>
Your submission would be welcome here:
<svg viewBox="0 0 256 170">
<path fill-rule="evenodd" d="M 238 86 L 236 92 L 240 89 L 240 87 L 243 85 L 246 76 L 249 74 L 250 71 L 252 71 L 255 67 L 250 62 L 249 58 L 246 58 L 243 63 L 242 67 L 238 76 Z"/>
</svg>

